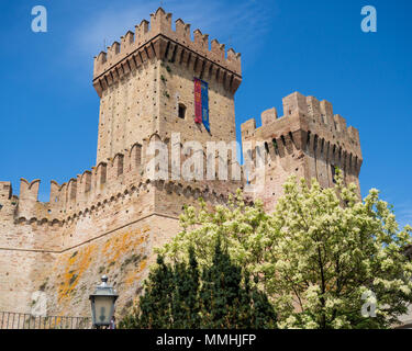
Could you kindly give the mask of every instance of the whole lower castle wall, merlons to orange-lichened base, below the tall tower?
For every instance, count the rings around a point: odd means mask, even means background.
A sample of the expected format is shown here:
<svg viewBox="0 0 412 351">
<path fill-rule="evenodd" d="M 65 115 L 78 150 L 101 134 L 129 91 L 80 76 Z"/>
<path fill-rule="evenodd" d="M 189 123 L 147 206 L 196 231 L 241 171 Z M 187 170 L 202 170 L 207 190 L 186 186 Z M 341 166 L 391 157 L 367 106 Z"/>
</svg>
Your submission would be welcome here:
<svg viewBox="0 0 412 351">
<path fill-rule="evenodd" d="M 153 181 L 143 146 L 58 185 L 37 201 L 38 181 L 21 180 L 20 197 L 0 183 L 0 310 L 30 313 L 44 292 L 48 315 L 88 316 L 88 296 L 103 273 L 119 290 L 118 310 L 136 297 L 159 247 L 179 230 L 183 205 L 202 196 L 224 204 L 241 182 Z M 142 160 L 145 165 L 142 165 Z"/>
</svg>

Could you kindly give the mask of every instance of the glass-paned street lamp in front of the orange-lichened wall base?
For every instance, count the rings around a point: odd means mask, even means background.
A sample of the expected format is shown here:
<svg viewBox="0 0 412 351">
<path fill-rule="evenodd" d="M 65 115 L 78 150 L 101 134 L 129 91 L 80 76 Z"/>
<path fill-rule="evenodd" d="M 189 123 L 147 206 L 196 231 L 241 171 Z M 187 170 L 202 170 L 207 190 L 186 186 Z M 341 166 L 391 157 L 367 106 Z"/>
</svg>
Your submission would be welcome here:
<svg viewBox="0 0 412 351">
<path fill-rule="evenodd" d="M 114 303 L 118 299 L 113 286 L 108 285 L 108 276 L 101 278 L 101 284 L 89 296 L 91 303 L 91 316 L 96 328 L 108 327 L 114 314 Z"/>
</svg>

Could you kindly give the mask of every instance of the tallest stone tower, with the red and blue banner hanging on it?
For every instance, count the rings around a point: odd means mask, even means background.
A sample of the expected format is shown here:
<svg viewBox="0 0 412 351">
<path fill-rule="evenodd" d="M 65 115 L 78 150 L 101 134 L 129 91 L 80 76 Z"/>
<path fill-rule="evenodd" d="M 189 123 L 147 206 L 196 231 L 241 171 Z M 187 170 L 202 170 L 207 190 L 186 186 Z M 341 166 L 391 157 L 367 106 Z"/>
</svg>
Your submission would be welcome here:
<svg viewBox="0 0 412 351">
<path fill-rule="evenodd" d="M 171 132 L 187 140 L 235 140 L 234 93 L 241 58 L 200 30 L 159 8 L 94 58 L 93 86 L 100 99 L 97 165 L 151 135 Z M 210 133 L 194 121 L 193 79 L 209 83 Z"/>
</svg>

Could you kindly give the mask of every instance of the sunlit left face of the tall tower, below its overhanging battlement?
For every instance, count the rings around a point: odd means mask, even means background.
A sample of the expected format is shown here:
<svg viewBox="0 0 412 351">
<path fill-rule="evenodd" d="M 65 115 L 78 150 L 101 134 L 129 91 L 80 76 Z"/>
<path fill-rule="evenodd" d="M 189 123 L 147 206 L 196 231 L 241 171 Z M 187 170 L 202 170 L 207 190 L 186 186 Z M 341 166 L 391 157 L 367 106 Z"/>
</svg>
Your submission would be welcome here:
<svg viewBox="0 0 412 351">
<path fill-rule="evenodd" d="M 146 60 L 102 92 L 97 163 L 124 152 L 158 129 L 159 63 Z"/>
</svg>

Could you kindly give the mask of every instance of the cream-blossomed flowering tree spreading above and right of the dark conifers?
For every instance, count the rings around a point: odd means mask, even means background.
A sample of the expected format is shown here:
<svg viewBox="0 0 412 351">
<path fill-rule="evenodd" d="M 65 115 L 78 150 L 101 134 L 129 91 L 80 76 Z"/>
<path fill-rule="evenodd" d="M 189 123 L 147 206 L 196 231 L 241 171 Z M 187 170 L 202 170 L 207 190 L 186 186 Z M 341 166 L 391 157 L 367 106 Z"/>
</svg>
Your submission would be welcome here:
<svg viewBox="0 0 412 351">
<path fill-rule="evenodd" d="M 339 172 L 332 189 L 291 177 L 272 214 L 260 202 L 246 205 L 238 192 L 227 207 L 207 211 L 201 202 L 180 220 L 183 230 L 159 252 L 187 261 L 193 246 L 208 265 L 221 237 L 269 295 L 281 328 L 387 328 L 412 302 L 404 254 L 412 228 L 399 230 L 377 190 L 359 201 Z"/>
</svg>

